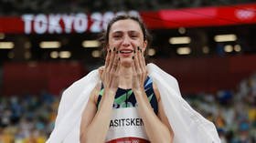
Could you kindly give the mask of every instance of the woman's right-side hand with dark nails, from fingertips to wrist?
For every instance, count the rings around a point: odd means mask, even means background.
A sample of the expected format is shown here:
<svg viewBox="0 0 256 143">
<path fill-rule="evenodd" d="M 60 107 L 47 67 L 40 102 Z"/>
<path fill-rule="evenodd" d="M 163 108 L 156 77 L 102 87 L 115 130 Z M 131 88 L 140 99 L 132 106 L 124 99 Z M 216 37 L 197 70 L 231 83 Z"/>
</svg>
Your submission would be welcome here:
<svg viewBox="0 0 256 143">
<path fill-rule="evenodd" d="M 132 88 L 133 92 L 144 92 L 144 81 L 147 77 L 144 54 L 139 46 L 134 51 Z"/>
</svg>

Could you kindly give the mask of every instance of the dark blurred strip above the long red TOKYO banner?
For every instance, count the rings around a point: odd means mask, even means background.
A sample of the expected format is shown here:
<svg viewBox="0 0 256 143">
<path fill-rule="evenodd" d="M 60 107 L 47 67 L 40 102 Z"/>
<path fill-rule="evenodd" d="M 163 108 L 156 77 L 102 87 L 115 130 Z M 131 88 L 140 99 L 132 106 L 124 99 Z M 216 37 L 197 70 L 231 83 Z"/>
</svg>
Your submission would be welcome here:
<svg viewBox="0 0 256 143">
<path fill-rule="evenodd" d="M 0 15 L 22 15 L 26 13 L 78 13 L 123 10 L 159 10 L 163 8 L 201 7 L 210 5 L 236 5 L 252 3 L 254 0 L 0 0 Z M 56 5 L 58 5 L 56 7 Z"/>
</svg>

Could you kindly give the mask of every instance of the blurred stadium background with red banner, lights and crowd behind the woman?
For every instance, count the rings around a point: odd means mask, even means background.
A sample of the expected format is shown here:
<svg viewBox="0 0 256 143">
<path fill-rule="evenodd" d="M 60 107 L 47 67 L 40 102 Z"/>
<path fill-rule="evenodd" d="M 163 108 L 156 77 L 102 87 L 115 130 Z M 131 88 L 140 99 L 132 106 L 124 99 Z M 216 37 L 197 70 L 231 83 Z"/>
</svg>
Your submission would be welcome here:
<svg viewBox="0 0 256 143">
<path fill-rule="evenodd" d="M 103 64 L 97 37 L 123 13 L 144 19 L 148 61 L 223 143 L 256 142 L 255 1 L 1 0 L 0 143 L 46 141 L 61 92 Z"/>
</svg>

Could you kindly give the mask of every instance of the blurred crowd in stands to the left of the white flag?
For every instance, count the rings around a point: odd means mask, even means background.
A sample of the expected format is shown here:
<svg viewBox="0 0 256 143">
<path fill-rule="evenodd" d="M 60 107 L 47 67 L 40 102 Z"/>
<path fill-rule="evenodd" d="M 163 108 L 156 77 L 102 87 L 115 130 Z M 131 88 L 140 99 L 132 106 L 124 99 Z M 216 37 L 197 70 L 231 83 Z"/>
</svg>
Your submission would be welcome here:
<svg viewBox="0 0 256 143">
<path fill-rule="evenodd" d="M 0 97 L 0 143 L 45 143 L 54 127 L 59 97 Z"/>
</svg>

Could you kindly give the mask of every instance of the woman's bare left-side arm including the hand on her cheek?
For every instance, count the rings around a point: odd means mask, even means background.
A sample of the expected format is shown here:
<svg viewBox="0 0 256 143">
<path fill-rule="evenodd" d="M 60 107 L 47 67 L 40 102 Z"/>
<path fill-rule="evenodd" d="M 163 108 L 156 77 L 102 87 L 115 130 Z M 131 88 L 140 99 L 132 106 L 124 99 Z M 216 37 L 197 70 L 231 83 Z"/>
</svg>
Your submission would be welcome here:
<svg viewBox="0 0 256 143">
<path fill-rule="evenodd" d="M 105 66 L 100 68 L 101 81 L 104 85 L 100 107 L 97 110 L 94 99 L 95 95 L 99 94 L 97 92 L 100 90 L 98 87 L 98 90 L 95 89 L 92 92 L 89 103 L 83 111 L 80 125 L 81 143 L 103 143 L 105 141 L 112 116 L 112 104 L 119 81 L 120 62 L 118 62 L 116 54 L 116 52 L 109 52 Z"/>
</svg>

